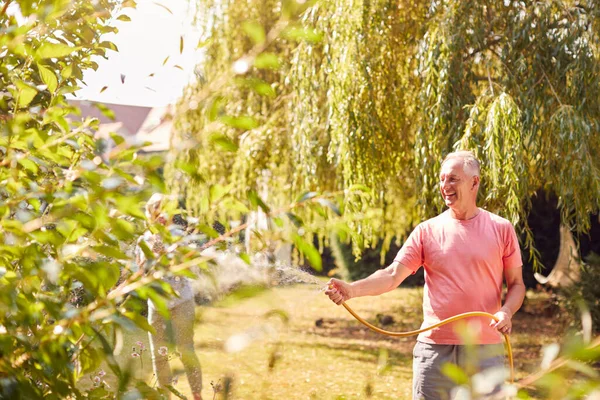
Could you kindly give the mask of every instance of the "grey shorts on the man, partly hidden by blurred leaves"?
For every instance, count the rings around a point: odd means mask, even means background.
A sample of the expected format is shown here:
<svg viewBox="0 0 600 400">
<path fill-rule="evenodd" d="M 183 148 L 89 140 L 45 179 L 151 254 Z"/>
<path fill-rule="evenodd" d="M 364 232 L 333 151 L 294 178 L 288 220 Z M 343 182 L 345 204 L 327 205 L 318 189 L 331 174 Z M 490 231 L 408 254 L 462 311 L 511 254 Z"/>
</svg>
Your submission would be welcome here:
<svg viewBox="0 0 600 400">
<path fill-rule="evenodd" d="M 417 342 L 413 350 L 413 400 L 448 400 L 453 397 L 453 389 L 458 384 L 442 372 L 442 367 L 447 363 L 457 365 L 468 377 L 492 368 L 503 375 L 504 345 L 463 346 Z M 500 390 L 501 383 L 494 383 L 488 393 Z"/>
</svg>

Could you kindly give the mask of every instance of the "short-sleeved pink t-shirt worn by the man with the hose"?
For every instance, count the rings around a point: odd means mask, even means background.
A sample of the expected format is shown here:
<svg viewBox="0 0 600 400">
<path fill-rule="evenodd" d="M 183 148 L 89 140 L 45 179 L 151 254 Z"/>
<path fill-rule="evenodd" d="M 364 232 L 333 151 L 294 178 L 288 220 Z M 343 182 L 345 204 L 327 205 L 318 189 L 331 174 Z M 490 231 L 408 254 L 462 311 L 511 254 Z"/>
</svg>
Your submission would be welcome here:
<svg viewBox="0 0 600 400">
<path fill-rule="evenodd" d="M 422 327 L 469 311 L 498 312 L 504 270 L 522 266 L 521 250 L 512 224 L 480 209 L 469 220 L 447 210 L 419 224 L 394 261 L 410 270 L 425 268 Z M 418 340 L 433 344 L 463 344 L 455 328 L 468 324 L 477 344 L 502 341 L 490 319 L 474 317 L 421 333 Z"/>
</svg>

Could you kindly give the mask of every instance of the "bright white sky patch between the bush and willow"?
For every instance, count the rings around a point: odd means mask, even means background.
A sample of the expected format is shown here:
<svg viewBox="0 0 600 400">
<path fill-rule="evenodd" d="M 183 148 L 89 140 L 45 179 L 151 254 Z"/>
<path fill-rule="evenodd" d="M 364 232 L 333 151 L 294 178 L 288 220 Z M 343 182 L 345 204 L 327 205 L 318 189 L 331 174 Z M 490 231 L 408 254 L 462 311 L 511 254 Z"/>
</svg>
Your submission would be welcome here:
<svg viewBox="0 0 600 400">
<path fill-rule="evenodd" d="M 119 51 L 107 51 L 108 60 L 94 59 L 99 68 L 85 72 L 87 86 L 76 92 L 77 98 L 149 107 L 174 103 L 200 61 L 200 32 L 192 26 L 188 1 L 138 0 L 136 9 L 127 9 L 131 21 L 116 21 L 119 32 L 105 36 Z"/>
</svg>

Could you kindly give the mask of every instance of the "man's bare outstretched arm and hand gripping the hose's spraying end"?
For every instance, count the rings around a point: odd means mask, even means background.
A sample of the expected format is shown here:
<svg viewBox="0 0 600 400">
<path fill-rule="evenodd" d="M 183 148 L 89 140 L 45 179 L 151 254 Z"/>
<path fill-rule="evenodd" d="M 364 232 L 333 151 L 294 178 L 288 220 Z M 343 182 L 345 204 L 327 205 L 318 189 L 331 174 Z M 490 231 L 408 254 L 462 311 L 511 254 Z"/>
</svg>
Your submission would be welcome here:
<svg viewBox="0 0 600 400">
<path fill-rule="evenodd" d="M 377 296 L 397 288 L 412 271 L 399 262 L 393 262 L 389 267 L 375 271 L 365 279 L 346 283 L 339 279 L 327 282 L 325 294 L 336 304 L 354 297 Z"/>
</svg>

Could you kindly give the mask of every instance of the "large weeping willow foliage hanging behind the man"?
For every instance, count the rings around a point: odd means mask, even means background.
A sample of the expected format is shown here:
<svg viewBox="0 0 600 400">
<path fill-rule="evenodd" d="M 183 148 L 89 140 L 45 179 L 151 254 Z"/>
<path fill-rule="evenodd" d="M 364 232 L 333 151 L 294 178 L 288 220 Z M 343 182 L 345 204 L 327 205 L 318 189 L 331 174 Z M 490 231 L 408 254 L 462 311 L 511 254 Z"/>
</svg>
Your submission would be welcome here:
<svg viewBox="0 0 600 400">
<path fill-rule="evenodd" d="M 213 185 L 266 186 L 275 205 L 336 192 L 357 248 L 385 249 L 441 211 L 455 149 L 476 153 L 481 205 L 527 245 L 541 190 L 578 231 L 598 212 L 596 2 L 322 0 L 296 18 L 290 1 L 200 3 L 205 79 L 181 99 L 167 168 L 195 213 Z"/>
</svg>

